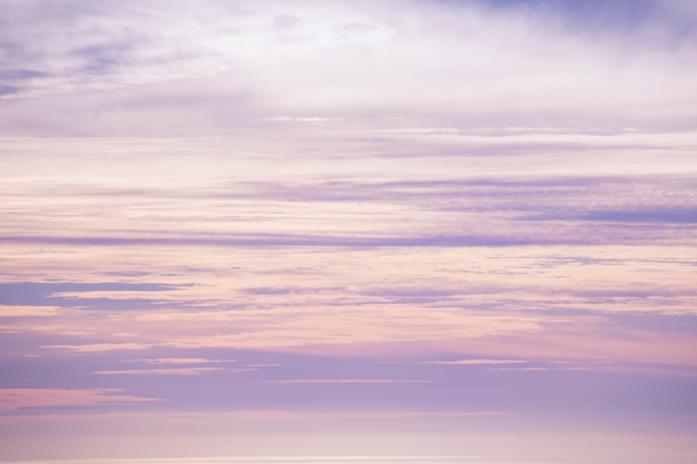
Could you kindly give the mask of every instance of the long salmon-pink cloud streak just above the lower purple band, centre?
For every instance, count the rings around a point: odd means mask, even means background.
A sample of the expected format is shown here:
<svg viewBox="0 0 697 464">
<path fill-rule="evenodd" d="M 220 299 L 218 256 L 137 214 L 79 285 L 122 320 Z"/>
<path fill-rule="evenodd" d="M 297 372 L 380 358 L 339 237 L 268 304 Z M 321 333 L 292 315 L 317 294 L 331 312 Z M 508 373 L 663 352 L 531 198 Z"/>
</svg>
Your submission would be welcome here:
<svg viewBox="0 0 697 464">
<path fill-rule="evenodd" d="M 499 314 L 478 314 L 461 309 L 429 309 L 428 317 L 410 307 L 369 305 L 353 308 L 304 306 L 297 309 L 255 312 L 159 313 L 143 314 L 141 324 L 165 324 L 184 327 L 186 320 L 198 322 L 205 333 L 193 330 L 161 340 L 164 346 L 177 348 L 253 348 L 287 349 L 312 347 L 410 342 L 413 344 L 444 338 L 493 336 L 510 332 L 536 332 L 534 317 L 509 317 Z M 217 320 L 214 324 L 212 322 Z M 390 320 L 389 324 L 385 320 Z M 237 327 L 216 330 L 220 324 Z"/>
</svg>

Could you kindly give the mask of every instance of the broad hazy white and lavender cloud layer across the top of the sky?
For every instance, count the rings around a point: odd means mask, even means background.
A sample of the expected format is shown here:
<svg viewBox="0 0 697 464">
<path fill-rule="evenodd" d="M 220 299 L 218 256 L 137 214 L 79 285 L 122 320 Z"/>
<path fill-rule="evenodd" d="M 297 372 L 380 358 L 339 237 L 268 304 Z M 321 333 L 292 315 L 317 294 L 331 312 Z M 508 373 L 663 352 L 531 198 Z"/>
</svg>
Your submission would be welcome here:
<svg viewBox="0 0 697 464">
<path fill-rule="evenodd" d="M 222 134 L 277 115 L 363 128 L 395 115 L 434 127 L 689 128 L 691 9 L 536 4 L 10 2 L 0 130 Z"/>
</svg>

